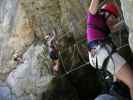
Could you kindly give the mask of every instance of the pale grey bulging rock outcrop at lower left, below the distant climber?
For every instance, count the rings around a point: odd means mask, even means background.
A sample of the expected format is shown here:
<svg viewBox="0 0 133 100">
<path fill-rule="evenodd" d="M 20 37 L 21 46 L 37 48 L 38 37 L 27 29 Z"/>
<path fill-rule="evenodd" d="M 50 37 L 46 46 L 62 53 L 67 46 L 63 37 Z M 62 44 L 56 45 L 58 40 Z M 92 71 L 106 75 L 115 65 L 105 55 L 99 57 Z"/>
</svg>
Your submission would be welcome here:
<svg viewBox="0 0 133 100">
<path fill-rule="evenodd" d="M 9 74 L 7 83 L 17 97 L 38 95 L 47 90 L 52 76 L 48 72 L 48 59 L 43 61 L 44 48 L 44 45 L 32 45 L 23 56 L 24 62 Z"/>
</svg>

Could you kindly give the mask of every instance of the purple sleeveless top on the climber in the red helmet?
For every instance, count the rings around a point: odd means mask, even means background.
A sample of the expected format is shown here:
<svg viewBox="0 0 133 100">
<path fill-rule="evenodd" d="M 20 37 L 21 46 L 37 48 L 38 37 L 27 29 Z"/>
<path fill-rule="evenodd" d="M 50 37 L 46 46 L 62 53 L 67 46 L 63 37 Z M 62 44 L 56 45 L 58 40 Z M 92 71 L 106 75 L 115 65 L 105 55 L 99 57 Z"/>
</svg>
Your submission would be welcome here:
<svg viewBox="0 0 133 100">
<path fill-rule="evenodd" d="M 86 36 L 88 43 L 94 40 L 104 40 L 107 36 L 108 27 L 103 16 L 87 13 Z"/>
</svg>

